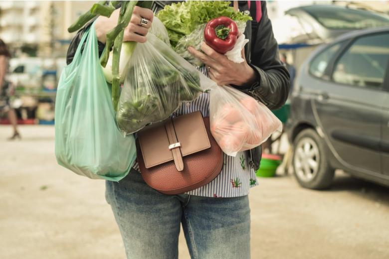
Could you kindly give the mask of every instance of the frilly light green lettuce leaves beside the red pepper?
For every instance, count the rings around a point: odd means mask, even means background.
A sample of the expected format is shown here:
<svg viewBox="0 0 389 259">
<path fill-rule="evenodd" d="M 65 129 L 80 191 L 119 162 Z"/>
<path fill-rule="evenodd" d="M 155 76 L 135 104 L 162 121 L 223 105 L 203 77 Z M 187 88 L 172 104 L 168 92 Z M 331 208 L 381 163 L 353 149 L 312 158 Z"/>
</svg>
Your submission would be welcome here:
<svg viewBox="0 0 389 259">
<path fill-rule="evenodd" d="M 229 1 L 185 1 L 166 5 L 157 17 L 168 29 L 170 42 L 175 47 L 185 35 L 190 34 L 198 25 L 213 18 L 227 16 L 235 21 L 248 21 L 251 16 L 235 12 Z"/>
</svg>

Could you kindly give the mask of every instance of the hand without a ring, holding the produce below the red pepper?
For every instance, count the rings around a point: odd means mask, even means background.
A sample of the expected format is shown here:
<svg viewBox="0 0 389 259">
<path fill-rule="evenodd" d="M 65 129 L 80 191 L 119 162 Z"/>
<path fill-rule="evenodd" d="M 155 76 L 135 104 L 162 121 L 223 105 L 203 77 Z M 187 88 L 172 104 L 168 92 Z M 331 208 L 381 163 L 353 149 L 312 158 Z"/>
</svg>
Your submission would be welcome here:
<svg viewBox="0 0 389 259">
<path fill-rule="evenodd" d="M 196 58 L 200 59 L 208 70 L 208 76 L 215 81 L 218 85 L 236 85 L 244 86 L 254 83 L 256 74 L 246 62 L 244 57 L 244 50 L 242 50 L 242 57 L 244 62 L 235 63 L 229 60 L 225 55 L 222 55 L 205 42 L 201 43 L 200 52 L 193 47 L 189 47 L 188 51 Z"/>
</svg>

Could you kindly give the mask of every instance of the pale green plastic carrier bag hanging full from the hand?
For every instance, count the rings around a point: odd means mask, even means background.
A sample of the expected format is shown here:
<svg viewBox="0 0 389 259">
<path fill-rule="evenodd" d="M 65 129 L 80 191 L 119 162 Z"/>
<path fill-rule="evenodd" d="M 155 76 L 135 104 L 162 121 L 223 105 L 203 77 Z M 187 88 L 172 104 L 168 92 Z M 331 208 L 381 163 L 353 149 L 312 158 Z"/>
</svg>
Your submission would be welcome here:
<svg viewBox="0 0 389 259">
<path fill-rule="evenodd" d="M 76 174 L 111 181 L 124 178 L 136 158 L 134 136 L 124 137 L 116 125 L 94 24 L 84 33 L 72 63 L 59 79 L 55 156 L 60 165 Z"/>
</svg>

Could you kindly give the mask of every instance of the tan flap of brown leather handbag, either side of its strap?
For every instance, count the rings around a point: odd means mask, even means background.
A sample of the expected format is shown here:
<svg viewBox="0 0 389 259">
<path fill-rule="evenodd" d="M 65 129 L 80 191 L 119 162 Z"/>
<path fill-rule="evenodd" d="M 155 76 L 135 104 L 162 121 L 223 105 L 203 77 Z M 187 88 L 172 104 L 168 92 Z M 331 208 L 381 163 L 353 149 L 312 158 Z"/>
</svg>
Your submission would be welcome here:
<svg viewBox="0 0 389 259">
<path fill-rule="evenodd" d="M 171 120 L 171 119 L 169 119 Z M 204 121 L 200 112 L 194 112 L 173 118 L 173 126 L 180 143 L 182 156 L 210 148 Z M 150 168 L 174 160 L 169 142 L 166 122 L 152 124 L 138 132 L 139 145 L 145 161 Z"/>
</svg>

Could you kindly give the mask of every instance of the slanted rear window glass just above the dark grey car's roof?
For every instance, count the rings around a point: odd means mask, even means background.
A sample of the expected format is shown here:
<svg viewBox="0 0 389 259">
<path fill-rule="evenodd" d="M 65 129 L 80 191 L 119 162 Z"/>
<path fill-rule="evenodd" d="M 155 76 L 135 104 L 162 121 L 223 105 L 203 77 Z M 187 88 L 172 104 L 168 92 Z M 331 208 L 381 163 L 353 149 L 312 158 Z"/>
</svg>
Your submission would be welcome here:
<svg viewBox="0 0 389 259">
<path fill-rule="evenodd" d="M 389 26 L 389 17 L 339 6 L 311 5 L 303 9 L 328 29 L 362 29 Z"/>
</svg>

